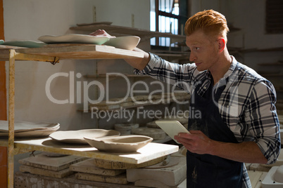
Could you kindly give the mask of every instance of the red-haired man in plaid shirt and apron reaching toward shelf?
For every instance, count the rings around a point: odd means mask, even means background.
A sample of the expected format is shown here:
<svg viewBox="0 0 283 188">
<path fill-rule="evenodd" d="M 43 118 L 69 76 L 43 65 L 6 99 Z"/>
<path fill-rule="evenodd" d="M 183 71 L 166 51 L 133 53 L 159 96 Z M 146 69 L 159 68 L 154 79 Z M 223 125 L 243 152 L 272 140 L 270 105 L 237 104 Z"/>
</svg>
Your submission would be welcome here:
<svg viewBox="0 0 283 188">
<path fill-rule="evenodd" d="M 188 150 L 187 187 L 251 187 L 244 163 L 270 164 L 279 155 L 275 88 L 229 55 L 228 31 L 224 15 L 202 11 L 185 25 L 194 64 L 177 65 L 145 52 L 142 60 L 126 60 L 137 74 L 179 83 L 201 112 L 201 118 L 189 118 L 190 134 L 175 136 Z"/>
</svg>

